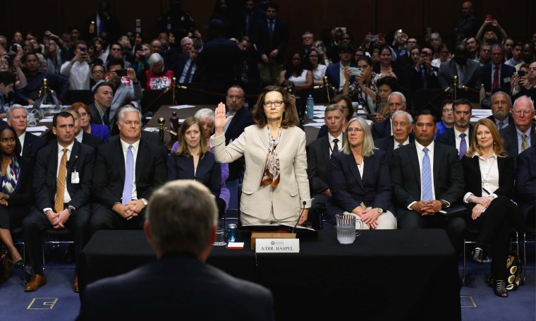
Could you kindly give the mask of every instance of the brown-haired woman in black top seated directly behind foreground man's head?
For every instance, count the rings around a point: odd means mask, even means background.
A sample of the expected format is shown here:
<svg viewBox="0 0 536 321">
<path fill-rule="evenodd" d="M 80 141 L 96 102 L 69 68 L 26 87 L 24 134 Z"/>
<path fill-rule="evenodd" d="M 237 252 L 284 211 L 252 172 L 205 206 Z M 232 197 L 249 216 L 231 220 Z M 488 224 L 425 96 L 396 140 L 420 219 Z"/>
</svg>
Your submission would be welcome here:
<svg viewBox="0 0 536 321">
<path fill-rule="evenodd" d="M 207 148 L 207 138 L 199 119 L 189 117 L 184 120 L 178 137 L 178 150 L 169 155 L 167 167 L 170 181 L 200 181 L 219 199 L 221 165 Z"/>
</svg>

